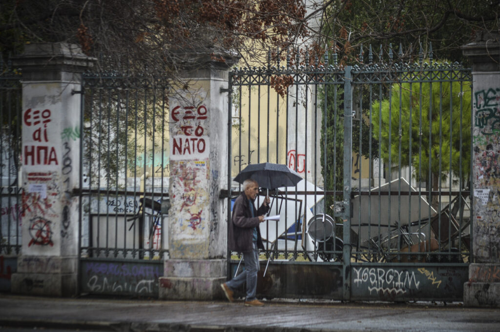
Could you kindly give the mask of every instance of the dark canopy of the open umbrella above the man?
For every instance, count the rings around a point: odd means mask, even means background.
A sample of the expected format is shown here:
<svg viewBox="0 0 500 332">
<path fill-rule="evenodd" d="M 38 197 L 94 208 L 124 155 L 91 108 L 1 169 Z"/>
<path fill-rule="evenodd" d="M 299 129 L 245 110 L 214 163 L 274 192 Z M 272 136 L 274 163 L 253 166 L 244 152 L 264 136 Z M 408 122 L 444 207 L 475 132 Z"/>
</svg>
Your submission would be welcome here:
<svg viewBox="0 0 500 332">
<path fill-rule="evenodd" d="M 234 181 L 243 183 L 246 179 L 257 181 L 261 188 L 276 189 L 295 186 L 302 177 L 286 165 L 260 163 L 246 166 L 236 175 Z"/>
</svg>

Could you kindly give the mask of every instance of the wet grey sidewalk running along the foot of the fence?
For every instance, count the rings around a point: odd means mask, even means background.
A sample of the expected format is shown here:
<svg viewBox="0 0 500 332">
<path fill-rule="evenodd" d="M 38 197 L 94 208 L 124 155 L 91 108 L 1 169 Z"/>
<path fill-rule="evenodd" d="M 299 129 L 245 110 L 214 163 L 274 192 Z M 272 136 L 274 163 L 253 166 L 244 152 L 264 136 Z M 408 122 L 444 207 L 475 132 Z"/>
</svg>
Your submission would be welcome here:
<svg viewBox="0 0 500 332">
<path fill-rule="evenodd" d="M 5 328 L 118 332 L 500 332 L 500 309 L 416 303 L 61 299 L 0 294 Z"/>
</svg>

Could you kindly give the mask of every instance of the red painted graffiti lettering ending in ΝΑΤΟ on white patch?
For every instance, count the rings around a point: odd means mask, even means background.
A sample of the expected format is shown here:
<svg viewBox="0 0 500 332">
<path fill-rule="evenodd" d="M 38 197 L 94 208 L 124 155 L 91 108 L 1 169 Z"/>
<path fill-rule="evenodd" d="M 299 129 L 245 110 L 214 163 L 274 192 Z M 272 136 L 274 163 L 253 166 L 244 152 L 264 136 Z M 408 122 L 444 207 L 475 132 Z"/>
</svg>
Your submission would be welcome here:
<svg viewBox="0 0 500 332">
<path fill-rule="evenodd" d="M 192 160 L 208 158 L 208 138 L 205 133 L 208 110 L 200 106 L 174 106 L 170 111 L 173 130 L 170 137 L 170 158 Z"/>
</svg>

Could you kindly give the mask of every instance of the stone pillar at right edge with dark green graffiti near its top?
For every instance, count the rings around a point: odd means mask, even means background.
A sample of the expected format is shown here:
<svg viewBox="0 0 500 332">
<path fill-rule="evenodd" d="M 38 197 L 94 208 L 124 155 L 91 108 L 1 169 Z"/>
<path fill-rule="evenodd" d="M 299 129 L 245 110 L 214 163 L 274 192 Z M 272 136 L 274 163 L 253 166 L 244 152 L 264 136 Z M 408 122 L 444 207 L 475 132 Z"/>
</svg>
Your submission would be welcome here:
<svg viewBox="0 0 500 332">
<path fill-rule="evenodd" d="M 465 306 L 500 307 L 500 43 L 480 33 L 462 47 L 472 61 L 472 257 Z"/>
</svg>

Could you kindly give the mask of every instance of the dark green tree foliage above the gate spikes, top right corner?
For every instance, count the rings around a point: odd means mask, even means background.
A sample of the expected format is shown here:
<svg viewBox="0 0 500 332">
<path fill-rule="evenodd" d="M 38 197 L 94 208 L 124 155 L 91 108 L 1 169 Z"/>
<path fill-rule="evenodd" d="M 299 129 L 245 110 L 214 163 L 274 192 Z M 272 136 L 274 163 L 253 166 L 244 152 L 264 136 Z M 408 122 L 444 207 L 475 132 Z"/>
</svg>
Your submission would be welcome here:
<svg viewBox="0 0 500 332">
<path fill-rule="evenodd" d="M 429 42 L 437 58 L 461 61 L 460 46 L 478 31 L 498 31 L 500 23 L 500 6 L 493 0 L 327 2 L 323 32 L 333 40 L 340 61 L 354 60 L 360 44 L 382 44 L 387 49 L 392 43 L 396 53 L 402 44 L 402 53 L 414 58 L 420 44 L 429 50 Z M 376 54 L 373 60 L 378 61 Z"/>
</svg>

